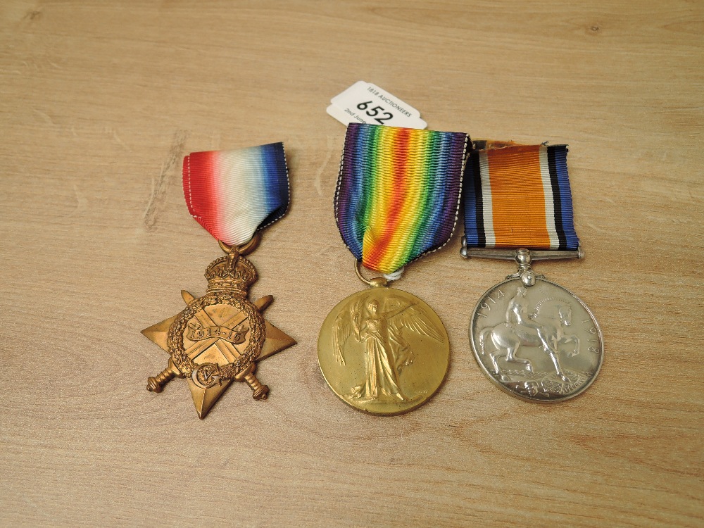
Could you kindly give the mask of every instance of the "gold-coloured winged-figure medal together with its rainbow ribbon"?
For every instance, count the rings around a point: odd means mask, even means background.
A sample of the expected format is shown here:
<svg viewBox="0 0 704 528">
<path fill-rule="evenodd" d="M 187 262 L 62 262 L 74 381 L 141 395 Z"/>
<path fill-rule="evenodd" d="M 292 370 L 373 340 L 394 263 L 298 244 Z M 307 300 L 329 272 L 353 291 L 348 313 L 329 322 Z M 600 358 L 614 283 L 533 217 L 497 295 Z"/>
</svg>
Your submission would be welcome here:
<svg viewBox="0 0 704 528">
<path fill-rule="evenodd" d="M 375 415 L 421 406 L 439 389 L 450 346 L 420 298 L 388 287 L 444 246 L 457 220 L 467 135 L 351 123 L 335 194 L 342 239 L 371 289 L 335 306 L 320 329 L 322 375 L 339 398 Z M 385 274 L 367 280 L 364 266 Z"/>
</svg>

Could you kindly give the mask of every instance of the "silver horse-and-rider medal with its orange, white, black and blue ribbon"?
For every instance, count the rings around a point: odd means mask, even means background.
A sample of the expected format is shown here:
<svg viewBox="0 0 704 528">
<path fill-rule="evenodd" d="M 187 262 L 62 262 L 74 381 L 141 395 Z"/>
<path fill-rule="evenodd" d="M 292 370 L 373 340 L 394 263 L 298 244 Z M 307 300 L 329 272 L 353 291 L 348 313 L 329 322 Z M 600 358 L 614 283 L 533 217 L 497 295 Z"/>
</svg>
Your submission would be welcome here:
<svg viewBox="0 0 704 528">
<path fill-rule="evenodd" d="M 567 146 L 472 151 L 464 187 L 462 255 L 518 265 L 472 313 L 470 343 L 479 367 L 519 398 L 577 396 L 601 367 L 601 329 L 577 296 L 532 270 L 534 260 L 583 256 L 572 220 Z"/>
</svg>

